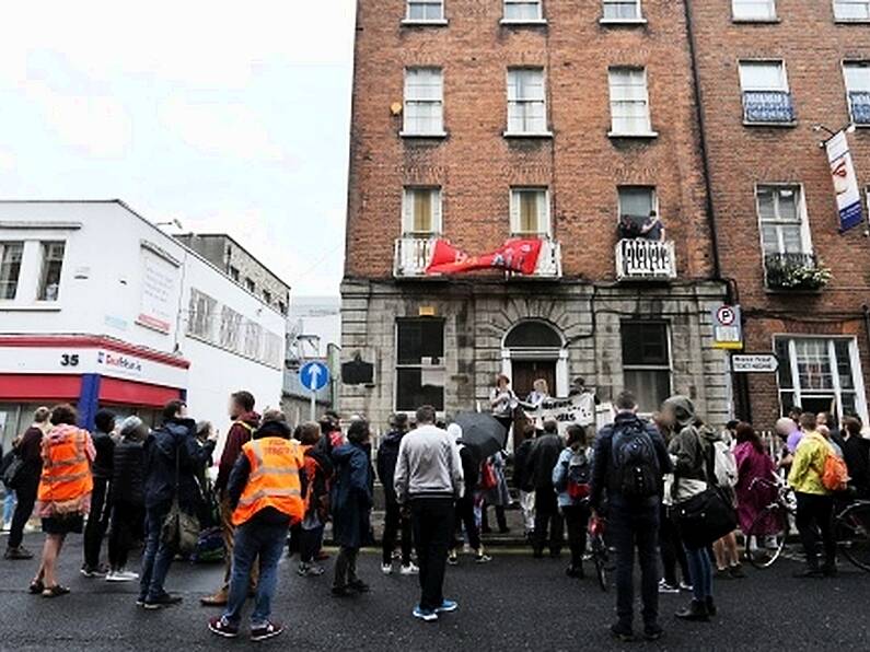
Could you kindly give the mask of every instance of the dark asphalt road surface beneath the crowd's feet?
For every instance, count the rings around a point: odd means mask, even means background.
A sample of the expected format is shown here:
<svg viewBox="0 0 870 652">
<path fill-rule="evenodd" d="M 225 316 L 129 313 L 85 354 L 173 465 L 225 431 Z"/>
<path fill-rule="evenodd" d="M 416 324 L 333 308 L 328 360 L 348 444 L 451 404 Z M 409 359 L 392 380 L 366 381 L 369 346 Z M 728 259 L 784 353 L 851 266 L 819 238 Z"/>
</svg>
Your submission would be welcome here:
<svg viewBox="0 0 870 652">
<path fill-rule="evenodd" d="M 0 537 L 0 545 L 4 544 Z M 39 535 L 28 535 L 37 548 Z M 61 554 L 60 578 L 68 596 L 46 599 L 26 593 L 37 561 L 0 560 L 0 650 L 237 650 L 247 639 L 224 640 L 206 629 L 219 609 L 199 606 L 198 598 L 222 579 L 222 566 L 176 562 L 166 586 L 184 603 L 160 612 L 135 605 L 137 586 L 86 580 L 79 572 L 81 537 Z M 613 590 L 603 593 L 590 578 L 565 577 L 567 559 L 533 560 L 526 550 L 498 548 L 488 564 L 463 557 L 450 568 L 446 594 L 460 609 L 436 624 L 411 618 L 416 578 L 380 571 L 374 551 L 360 558 L 360 577 L 368 595 L 336 599 L 330 574 L 302 579 L 294 560 L 281 561 L 274 616 L 288 630 L 258 643 L 264 649 L 337 651 L 469 651 L 513 650 L 819 650 L 868 649 L 870 575 L 844 567 L 835 580 L 794 580 L 800 567 L 782 560 L 773 569 L 746 569 L 745 580 L 716 584 L 720 616 L 710 624 L 684 624 L 673 613 L 686 594 L 661 599 L 665 637 L 657 643 L 617 643 L 607 626 L 614 617 Z M 326 562 L 332 570 L 332 560 Z"/>
</svg>

